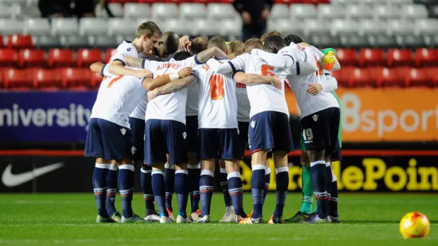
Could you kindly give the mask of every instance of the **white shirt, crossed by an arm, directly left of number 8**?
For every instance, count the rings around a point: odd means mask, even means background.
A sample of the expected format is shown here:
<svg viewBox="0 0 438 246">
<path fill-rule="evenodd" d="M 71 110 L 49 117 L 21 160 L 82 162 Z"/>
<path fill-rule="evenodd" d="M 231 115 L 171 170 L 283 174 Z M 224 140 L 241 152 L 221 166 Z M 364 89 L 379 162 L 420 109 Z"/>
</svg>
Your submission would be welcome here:
<svg viewBox="0 0 438 246">
<path fill-rule="evenodd" d="M 165 74 L 179 72 L 186 67 L 199 64 L 196 55 L 182 61 L 168 62 L 143 60 L 143 68 L 153 72 L 154 78 Z M 145 120 L 177 120 L 185 124 L 185 104 L 187 102 L 187 88 L 177 92 L 159 95 L 151 100 L 146 107 Z"/>
</svg>

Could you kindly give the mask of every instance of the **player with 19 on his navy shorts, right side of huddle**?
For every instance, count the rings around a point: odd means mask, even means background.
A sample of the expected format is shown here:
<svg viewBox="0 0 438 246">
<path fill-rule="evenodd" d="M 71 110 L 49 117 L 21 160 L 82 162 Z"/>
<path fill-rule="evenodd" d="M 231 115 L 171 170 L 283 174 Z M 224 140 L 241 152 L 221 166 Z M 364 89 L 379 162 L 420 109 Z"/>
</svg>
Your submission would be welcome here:
<svg viewBox="0 0 438 246">
<path fill-rule="evenodd" d="M 291 44 L 287 46 L 284 40 L 277 36 L 266 38 L 263 47 L 271 53 L 278 53 L 283 56 L 294 57 L 297 63 L 309 57 L 314 57 L 315 64 L 322 53 L 309 44 Z M 298 49 L 297 49 L 298 48 Z M 302 51 L 313 51 L 313 55 L 302 55 Z M 261 55 L 263 57 L 263 55 Z M 278 62 L 271 60 L 269 57 L 263 57 L 268 63 Z M 309 59 L 312 61 L 313 59 Z M 324 71 L 318 66 L 318 70 L 307 76 L 292 76 L 298 73 L 298 66 L 289 66 L 281 72 L 281 76 L 287 78 L 287 82 L 294 91 L 298 106 L 301 110 L 302 137 L 307 149 L 307 157 L 310 162 L 310 172 L 312 176 L 313 193 L 315 193 L 318 213 L 309 217 L 306 223 L 324 223 L 330 221 L 329 193 L 332 183 L 332 171 L 330 158 L 332 152 L 337 148 L 337 137 L 339 131 L 339 104 L 333 96 L 333 90 L 337 84 L 333 80 L 328 80 Z M 320 84 L 319 93 L 309 90 L 310 87 L 317 87 Z"/>
</svg>

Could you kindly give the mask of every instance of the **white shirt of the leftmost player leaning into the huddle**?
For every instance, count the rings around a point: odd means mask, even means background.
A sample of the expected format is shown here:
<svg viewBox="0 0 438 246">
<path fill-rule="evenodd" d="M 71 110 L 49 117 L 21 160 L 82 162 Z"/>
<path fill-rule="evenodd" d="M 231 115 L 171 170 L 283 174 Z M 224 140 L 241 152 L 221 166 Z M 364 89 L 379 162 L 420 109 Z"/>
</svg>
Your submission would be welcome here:
<svg viewBox="0 0 438 246">
<path fill-rule="evenodd" d="M 100 118 L 129 128 L 129 114 L 146 94 L 142 81 L 118 76 L 102 81 L 90 118 Z"/>
</svg>

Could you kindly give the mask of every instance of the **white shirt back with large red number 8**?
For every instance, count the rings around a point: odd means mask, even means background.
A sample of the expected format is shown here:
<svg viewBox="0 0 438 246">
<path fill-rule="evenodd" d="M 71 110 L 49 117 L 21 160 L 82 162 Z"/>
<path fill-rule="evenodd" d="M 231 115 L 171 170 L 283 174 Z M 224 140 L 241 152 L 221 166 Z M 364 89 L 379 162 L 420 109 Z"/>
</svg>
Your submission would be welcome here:
<svg viewBox="0 0 438 246">
<path fill-rule="evenodd" d="M 228 60 L 220 60 L 225 63 Z M 218 74 L 211 69 L 216 66 L 214 58 L 194 68 L 198 76 L 199 128 L 237 128 L 237 100 L 235 81 L 231 74 Z"/>
</svg>

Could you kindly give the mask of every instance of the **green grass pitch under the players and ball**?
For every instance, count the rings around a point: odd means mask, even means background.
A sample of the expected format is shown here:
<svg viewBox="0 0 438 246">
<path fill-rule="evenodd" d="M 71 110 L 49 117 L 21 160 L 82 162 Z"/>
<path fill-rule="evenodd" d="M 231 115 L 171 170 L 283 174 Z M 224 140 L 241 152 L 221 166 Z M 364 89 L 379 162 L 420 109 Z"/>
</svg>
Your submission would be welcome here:
<svg viewBox="0 0 438 246">
<path fill-rule="evenodd" d="M 117 200 L 120 208 L 120 197 Z M 274 201 L 275 195 L 270 193 L 263 211 L 266 221 Z M 92 193 L 1 194 L 0 245 L 438 245 L 436 194 L 341 193 L 339 201 L 339 224 L 96 224 Z M 249 212 L 250 194 L 245 194 L 244 204 Z M 134 195 L 133 206 L 143 215 L 141 194 Z M 285 217 L 296 213 L 299 206 L 300 194 L 290 194 Z M 404 240 L 398 232 L 398 221 L 415 210 L 428 215 L 431 232 L 428 238 Z M 218 221 L 223 212 L 222 195 L 217 193 L 213 197 L 212 219 Z"/>
</svg>

